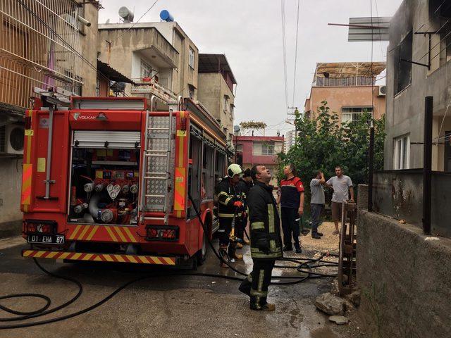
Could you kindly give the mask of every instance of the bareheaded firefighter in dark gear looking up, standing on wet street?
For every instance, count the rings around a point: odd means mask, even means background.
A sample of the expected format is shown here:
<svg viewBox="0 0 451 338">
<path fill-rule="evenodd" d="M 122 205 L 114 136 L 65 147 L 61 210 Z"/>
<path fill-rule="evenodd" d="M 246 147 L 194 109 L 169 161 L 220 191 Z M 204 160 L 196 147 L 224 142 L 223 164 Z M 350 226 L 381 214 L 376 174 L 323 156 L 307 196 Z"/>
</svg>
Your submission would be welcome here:
<svg viewBox="0 0 451 338">
<path fill-rule="evenodd" d="M 273 187 L 269 185 L 271 173 L 264 165 L 251 170 L 254 187 L 247 197 L 251 227 L 252 273 L 240 284 L 240 292 L 250 296 L 250 308 L 274 311 L 276 306 L 266 301 L 268 285 L 276 259 L 283 256 L 280 238 L 280 219 Z"/>
</svg>

